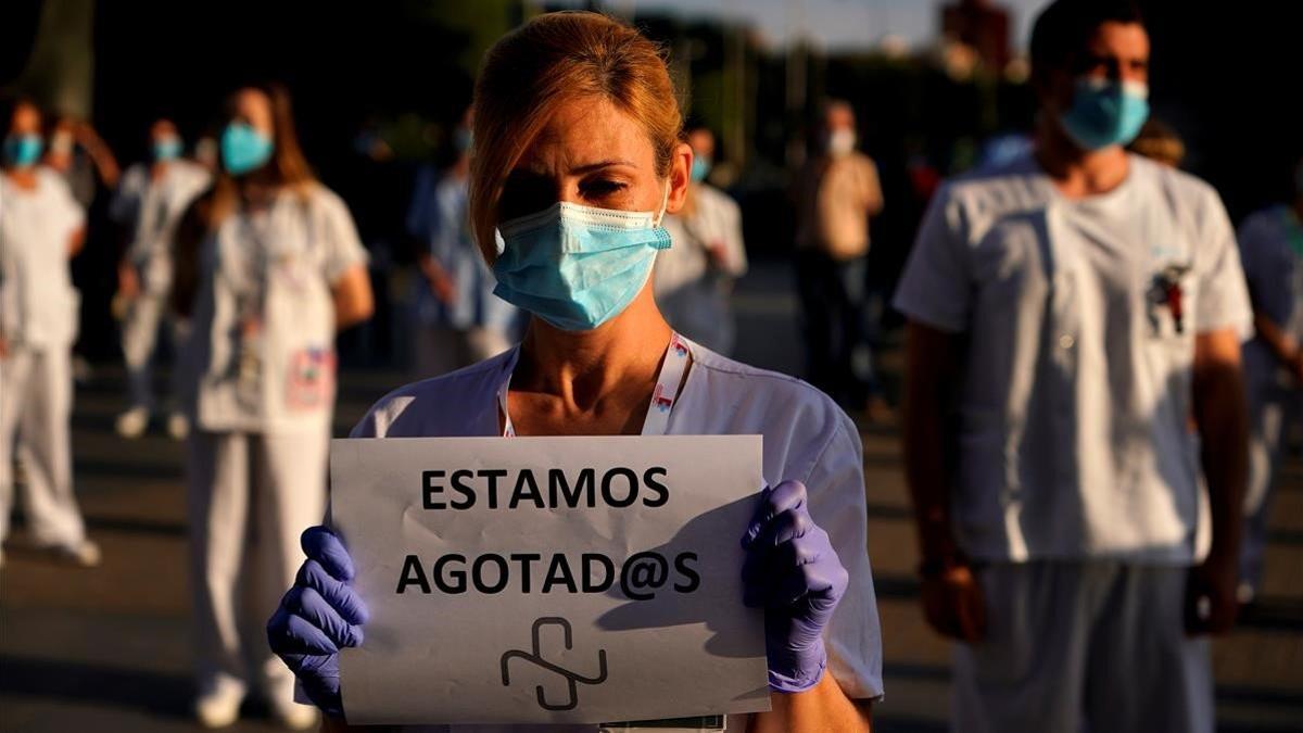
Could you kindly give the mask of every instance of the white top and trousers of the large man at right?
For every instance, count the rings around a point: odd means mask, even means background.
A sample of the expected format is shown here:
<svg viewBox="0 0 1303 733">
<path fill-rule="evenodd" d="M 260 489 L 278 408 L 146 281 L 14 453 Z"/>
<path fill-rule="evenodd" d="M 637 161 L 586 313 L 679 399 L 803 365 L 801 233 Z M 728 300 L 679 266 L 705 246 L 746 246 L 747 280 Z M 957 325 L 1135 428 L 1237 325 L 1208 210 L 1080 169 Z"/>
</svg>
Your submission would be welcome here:
<svg viewBox="0 0 1303 733">
<path fill-rule="evenodd" d="M 1252 320 L 1217 193 L 1128 166 L 1084 200 L 1029 155 L 947 184 L 896 292 L 967 344 L 951 506 L 989 634 L 956 644 L 955 730 L 1213 726 L 1182 623 L 1209 540 L 1191 364 L 1196 334 Z"/>
</svg>

